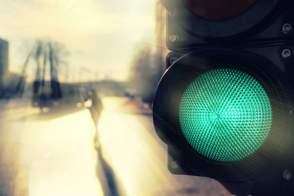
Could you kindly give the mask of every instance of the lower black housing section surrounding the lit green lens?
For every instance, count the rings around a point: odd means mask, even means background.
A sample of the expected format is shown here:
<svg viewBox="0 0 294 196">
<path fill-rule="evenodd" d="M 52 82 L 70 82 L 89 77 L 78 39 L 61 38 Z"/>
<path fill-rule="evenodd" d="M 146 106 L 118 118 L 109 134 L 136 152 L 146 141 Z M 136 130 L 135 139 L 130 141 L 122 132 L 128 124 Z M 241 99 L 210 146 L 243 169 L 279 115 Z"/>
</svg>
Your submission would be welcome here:
<svg viewBox="0 0 294 196">
<path fill-rule="evenodd" d="M 293 43 L 287 41 L 267 47 L 238 49 L 214 47 L 168 55 L 168 67 L 170 58 L 182 57 L 169 67 L 157 87 L 153 121 L 157 135 L 169 146 L 169 170 L 172 173 L 206 176 L 219 181 L 285 181 L 282 172 L 294 171 L 294 58 L 292 55 L 284 59 L 281 56 L 284 49 L 294 51 Z M 199 64 L 202 66 L 197 66 Z M 218 163 L 198 154 L 187 143 L 178 120 L 180 98 L 188 84 L 207 69 L 221 66 L 241 69 L 259 80 L 273 108 L 272 129 L 265 144 L 250 157 L 233 164 Z M 171 168 L 173 160 L 181 163 L 181 170 Z"/>
</svg>

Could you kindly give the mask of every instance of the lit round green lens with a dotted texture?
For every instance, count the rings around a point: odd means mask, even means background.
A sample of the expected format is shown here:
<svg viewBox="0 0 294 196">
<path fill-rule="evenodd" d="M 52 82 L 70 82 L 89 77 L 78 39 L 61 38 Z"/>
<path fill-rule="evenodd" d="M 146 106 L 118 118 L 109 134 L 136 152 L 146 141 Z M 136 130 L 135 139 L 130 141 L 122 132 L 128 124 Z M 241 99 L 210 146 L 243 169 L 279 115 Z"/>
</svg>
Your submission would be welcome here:
<svg viewBox="0 0 294 196">
<path fill-rule="evenodd" d="M 270 132 L 270 99 L 251 75 L 219 68 L 199 75 L 185 90 L 179 122 L 188 143 L 220 162 L 245 159 Z"/>
</svg>

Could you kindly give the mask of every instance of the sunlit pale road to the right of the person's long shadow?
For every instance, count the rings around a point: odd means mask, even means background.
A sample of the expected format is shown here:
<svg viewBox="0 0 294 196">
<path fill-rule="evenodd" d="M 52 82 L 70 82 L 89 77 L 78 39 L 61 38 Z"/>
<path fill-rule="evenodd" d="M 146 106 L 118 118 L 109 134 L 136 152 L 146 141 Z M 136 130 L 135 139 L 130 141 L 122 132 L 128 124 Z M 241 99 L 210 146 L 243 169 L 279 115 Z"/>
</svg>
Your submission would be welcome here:
<svg viewBox="0 0 294 196">
<path fill-rule="evenodd" d="M 167 146 L 157 137 L 150 114 L 128 98 L 102 98 L 98 123 L 102 154 L 127 196 L 225 196 L 214 180 L 172 175 Z"/>
</svg>

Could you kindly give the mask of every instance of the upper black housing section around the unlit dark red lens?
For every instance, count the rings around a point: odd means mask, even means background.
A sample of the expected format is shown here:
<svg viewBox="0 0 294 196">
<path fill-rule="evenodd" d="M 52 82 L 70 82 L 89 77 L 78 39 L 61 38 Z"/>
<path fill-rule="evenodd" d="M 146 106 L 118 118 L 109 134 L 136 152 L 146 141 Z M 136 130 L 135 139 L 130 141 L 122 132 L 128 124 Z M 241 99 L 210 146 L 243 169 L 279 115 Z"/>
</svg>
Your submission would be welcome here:
<svg viewBox="0 0 294 196">
<path fill-rule="evenodd" d="M 166 0 L 161 1 L 164 4 Z M 167 47 L 172 51 L 215 45 L 254 45 L 261 41 L 273 44 L 294 38 L 293 0 L 258 0 L 241 16 L 226 21 L 201 19 L 189 11 L 181 0 L 167 3 Z M 292 25 L 289 33 L 282 31 L 284 24 Z M 178 36 L 178 42 L 171 42 L 172 35 Z"/>
</svg>

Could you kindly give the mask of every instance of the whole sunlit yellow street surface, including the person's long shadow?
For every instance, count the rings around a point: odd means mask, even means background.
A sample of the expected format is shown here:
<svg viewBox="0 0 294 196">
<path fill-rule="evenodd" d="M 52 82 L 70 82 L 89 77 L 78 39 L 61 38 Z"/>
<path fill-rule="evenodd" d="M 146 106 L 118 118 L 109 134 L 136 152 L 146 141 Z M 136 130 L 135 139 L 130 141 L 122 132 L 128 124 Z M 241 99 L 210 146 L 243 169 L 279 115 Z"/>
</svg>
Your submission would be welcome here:
<svg viewBox="0 0 294 196">
<path fill-rule="evenodd" d="M 225 196 L 203 177 L 172 175 L 152 116 L 125 97 L 102 98 L 100 147 L 88 109 L 40 114 L 0 103 L 0 196 Z"/>
</svg>

